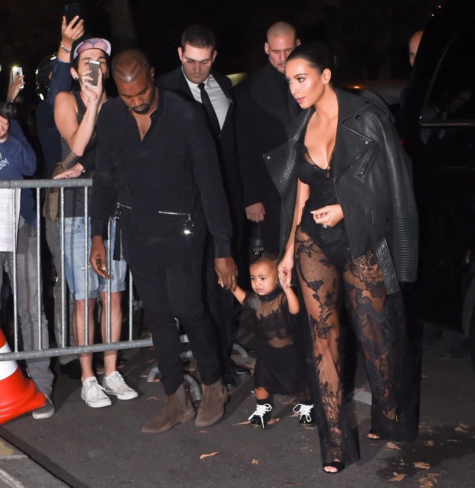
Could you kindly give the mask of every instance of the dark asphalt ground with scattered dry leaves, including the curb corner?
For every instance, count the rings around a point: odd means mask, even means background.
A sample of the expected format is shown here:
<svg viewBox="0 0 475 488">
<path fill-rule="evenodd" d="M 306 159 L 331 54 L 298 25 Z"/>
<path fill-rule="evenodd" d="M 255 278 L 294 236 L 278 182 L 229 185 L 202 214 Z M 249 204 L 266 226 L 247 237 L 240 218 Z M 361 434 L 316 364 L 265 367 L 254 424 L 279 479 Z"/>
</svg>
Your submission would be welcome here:
<svg viewBox="0 0 475 488">
<path fill-rule="evenodd" d="M 252 349 L 247 330 L 238 339 Z M 113 397 L 111 407 L 92 409 L 80 399 L 79 381 L 58 375 L 53 417 L 24 414 L 0 427 L 0 488 L 468 488 L 475 477 L 475 375 L 468 356 L 442 358 L 449 344 L 450 335 L 424 348 L 420 434 L 411 445 L 366 438 L 370 394 L 359 361 L 353 405 L 361 460 L 337 475 L 323 472 L 316 430 L 298 428 L 291 397 L 276 396 L 275 423 L 265 431 L 247 425 L 255 406 L 251 378 L 232 392 L 217 424 L 142 433 L 165 397 L 160 382 L 147 382 L 153 351 L 130 350 L 121 372 L 139 398 Z M 193 360 L 186 367 L 196 374 Z"/>
</svg>

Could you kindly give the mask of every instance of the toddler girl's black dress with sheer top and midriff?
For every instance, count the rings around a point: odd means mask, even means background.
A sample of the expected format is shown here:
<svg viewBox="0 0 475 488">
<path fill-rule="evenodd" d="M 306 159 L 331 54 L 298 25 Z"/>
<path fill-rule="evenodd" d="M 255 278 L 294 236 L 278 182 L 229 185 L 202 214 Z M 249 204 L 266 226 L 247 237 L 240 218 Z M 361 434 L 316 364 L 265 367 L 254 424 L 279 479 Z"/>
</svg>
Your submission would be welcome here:
<svg viewBox="0 0 475 488">
<path fill-rule="evenodd" d="M 254 386 L 271 393 L 295 394 L 299 403 L 311 404 L 298 317 L 289 312 L 286 294 L 279 288 L 264 296 L 247 292 L 242 304 L 255 317 L 259 354 Z"/>
</svg>

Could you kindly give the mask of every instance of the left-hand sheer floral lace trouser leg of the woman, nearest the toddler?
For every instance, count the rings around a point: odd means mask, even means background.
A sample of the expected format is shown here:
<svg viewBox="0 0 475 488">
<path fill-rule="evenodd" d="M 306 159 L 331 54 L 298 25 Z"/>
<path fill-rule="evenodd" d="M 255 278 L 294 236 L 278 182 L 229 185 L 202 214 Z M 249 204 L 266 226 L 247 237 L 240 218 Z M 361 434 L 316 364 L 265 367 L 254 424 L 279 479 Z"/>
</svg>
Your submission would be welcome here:
<svg viewBox="0 0 475 488">
<path fill-rule="evenodd" d="M 295 239 L 296 270 L 313 342 L 316 424 L 323 465 L 358 459 L 340 380 L 338 293 L 340 272 L 300 230 Z"/>
</svg>

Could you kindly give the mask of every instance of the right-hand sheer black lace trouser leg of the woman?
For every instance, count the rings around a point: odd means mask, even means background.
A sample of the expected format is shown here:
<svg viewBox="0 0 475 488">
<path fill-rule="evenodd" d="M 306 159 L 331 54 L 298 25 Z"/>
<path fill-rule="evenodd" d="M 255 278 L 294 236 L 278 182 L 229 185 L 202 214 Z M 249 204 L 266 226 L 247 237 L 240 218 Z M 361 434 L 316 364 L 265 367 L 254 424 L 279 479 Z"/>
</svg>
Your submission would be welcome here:
<svg viewBox="0 0 475 488">
<path fill-rule="evenodd" d="M 396 378 L 404 360 L 397 345 L 401 320 L 397 315 L 403 320 L 403 313 L 391 307 L 393 298 L 387 295 L 381 268 L 371 251 L 345 264 L 343 280 L 371 386 L 371 430 L 389 439 L 398 430 L 402 406 Z"/>
</svg>

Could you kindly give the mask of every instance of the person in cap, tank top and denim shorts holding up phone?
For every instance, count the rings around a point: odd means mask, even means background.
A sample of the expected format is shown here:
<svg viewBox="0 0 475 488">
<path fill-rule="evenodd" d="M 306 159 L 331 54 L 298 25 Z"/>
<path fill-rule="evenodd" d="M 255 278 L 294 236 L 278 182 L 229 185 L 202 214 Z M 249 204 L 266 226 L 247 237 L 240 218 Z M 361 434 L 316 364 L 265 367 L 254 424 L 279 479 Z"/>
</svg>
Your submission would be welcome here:
<svg viewBox="0 0 475 488">
<path fill-rule="evenodd" d="M 79 80 L 81 89 L 73 92 L 61 92 L 56 96 L 54 104 L 54 120 L 61 134 L 62 158 L 70 152 L 77 156 L 75 161 L 62 172 L 61 178 L 90 178 L 96 167 L 95 159 L 95 126 L 97 115 L 108 97 L 104 88 L 104 79 L 108 75 L 110 43 L 105 39 L 83 36 L 76 40 L 71 47 L 71 74 Z M 99 64 L 99 76 L 92 83 L 89 61 Z M 97 83 L 97 84 L 96 84 Z M 75 163 L 75 164 L 74 164 Z M 90 191 L 90 190 L 89 190 Z M 111 215 L 113 209 L 111 208 Z M 94 306 L 100 297 L 101 332 L 103 341 L 107 337 L 107 293 L 106 280 L 90 269 L 85 258 L 85 191 L 83 188 L 67 189 L 65 191 L 64 215 L 59 221 L 59 234 L 64 232 L 66 279 L 74 299 L 73 331 L 77 345 L 85 344 L 85 326 L 88 327 L 88 343 L 94 340 Z M 87 219 L 90 251 L 90 219 Z M 114 250 L 115 221 L 111 219 L 110 238 L 104 236 L 110 243 L 110 250 Z M 107 242 L 106 242 L 107 244 Z M 88 267 L 88 317 L 85 316 L 86 303 L 86 263 Z M 123 258 L 111 263 L 111 317 L 110 341 L 120 339 L 122 325 L 121 292 L 125 289 L 126 263 Z M 104 352 L 104 379 L 102 386 L 98 383 L 92 370 L 92 354 L 79 354 L 81 363 L 81 398 L 89 407 L 106 407 L 111 405 L 111 399 L 106 393 L 117 396 L 119 400 L 130 400 L 138 396 L 116 371 L 117 351 Z"/>
</svg>

